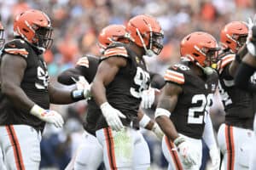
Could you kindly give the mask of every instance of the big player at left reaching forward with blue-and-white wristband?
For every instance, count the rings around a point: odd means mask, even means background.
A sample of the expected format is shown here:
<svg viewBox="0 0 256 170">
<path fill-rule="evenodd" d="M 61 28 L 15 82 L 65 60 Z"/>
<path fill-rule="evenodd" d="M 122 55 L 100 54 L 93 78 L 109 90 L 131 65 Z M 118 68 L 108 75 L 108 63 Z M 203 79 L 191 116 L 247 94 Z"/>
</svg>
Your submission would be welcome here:
<svg viewBox="0 0 256 170">
<path fill-rule="evenodd" d="M 45 122 L 62 127 L 61 114 L 49 103 L 84 99 L 88 89 L 64 90 L 49 83 L 43 54 L 52 42 L 47 14 L 29 9 L 15 17 L 15 39 L 1 55 L 0 145 L 7 169 L 38 169 Z"/>
</svg>

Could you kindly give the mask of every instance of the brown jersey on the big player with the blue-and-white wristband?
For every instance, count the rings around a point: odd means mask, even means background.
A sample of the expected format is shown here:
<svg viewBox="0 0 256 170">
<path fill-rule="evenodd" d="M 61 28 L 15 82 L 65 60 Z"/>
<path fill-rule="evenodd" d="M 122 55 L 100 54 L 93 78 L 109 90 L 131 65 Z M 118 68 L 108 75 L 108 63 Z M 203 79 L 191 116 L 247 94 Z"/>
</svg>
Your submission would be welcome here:
<svg viewBox="0 0 256 170">
<path fill-rule="evenodd" d="M 6 57 L 5 54 L 13 54 L 26 60 L 26 70 L 20 88 L 33 102 L 44 109 L 49 109 L 49 76 L 43 56 L 21 39 L 7 42 L 3 48 L 1 59 Z M 0 93 L 0 125 L 10 124 L 26 124 L 38 130 L 44 128 L 44 122 L 38 117 L 16 108 L 7 96 Z"/>
</svg>

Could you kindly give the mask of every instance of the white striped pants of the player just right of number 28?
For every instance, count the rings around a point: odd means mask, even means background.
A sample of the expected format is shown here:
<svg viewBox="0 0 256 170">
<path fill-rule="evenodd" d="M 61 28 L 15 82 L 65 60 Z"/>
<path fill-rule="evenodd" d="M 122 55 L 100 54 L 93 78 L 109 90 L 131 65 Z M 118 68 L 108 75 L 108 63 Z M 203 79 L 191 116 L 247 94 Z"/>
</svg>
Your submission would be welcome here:
<svg viewBox="0 0 256 170">
<path fill-rule="evenodd" d="M 222 164 L 225 170 L 248 169 L 253 136 L 250 129 L 221 124 L 218 145 L 224 155 Z"/>
</svg>

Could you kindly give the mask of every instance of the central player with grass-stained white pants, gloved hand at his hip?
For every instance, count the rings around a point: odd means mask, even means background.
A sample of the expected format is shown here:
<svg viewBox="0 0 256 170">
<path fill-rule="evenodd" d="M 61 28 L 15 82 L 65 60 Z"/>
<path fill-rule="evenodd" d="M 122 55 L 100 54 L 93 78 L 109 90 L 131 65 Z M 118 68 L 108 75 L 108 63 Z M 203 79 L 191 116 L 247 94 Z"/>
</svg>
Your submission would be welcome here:
<svg viewBox="0 0 256 170">
<path fill-rule="evenodd" d="M 160 54 L 163 33 L 157 20 L 148 15 L 133 17 L 126 31 L 130 41 L 113 42 L 105 49 L 91 85 L 102 112 L 96 138 L 107 169 L 148 169 L 150 162 L 142 162 L 142 134 L 132 122 L 137 120 L 141 94 L 150 83 L 143 55 Z"/>
</svg>

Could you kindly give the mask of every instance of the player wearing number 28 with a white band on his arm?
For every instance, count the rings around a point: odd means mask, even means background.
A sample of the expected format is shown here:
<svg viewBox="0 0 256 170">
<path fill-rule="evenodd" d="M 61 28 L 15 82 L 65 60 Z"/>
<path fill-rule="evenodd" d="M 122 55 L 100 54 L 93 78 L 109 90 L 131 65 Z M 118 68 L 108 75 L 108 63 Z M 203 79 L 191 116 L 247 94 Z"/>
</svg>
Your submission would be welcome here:
<svg viewBox="0 0 256 170">
<path fill-rule="evenodd" d="M 183 59 L 165 74 L 155 120 L 166 137 L 162 150 L 169 169 L 200 169 L 205 139 L 214 169 L 219 167 L 219 151 L 214 139 L 209 107 L 218 87 L 218 74 L 212 68 L 218 61 L 218 44 L 207 32 L 196 31 L 180 44 Z"/>
</svg>

